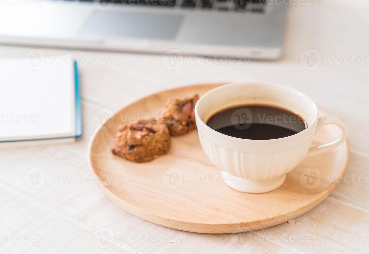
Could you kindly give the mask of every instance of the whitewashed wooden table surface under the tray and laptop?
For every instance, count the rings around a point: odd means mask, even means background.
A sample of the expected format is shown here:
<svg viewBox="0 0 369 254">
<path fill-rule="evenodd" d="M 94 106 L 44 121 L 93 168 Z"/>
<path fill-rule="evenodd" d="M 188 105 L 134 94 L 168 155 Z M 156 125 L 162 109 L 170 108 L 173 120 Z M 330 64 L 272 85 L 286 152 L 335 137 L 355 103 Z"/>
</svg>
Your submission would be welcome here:
<svg viewBox="0 0 369 254">
<path fill-rule="evenodd" d="M 83 136 L 71 145 L 0 150 L 0 252 L 366 252 L 368 13 L 366 0 L 321 0 L 315 8 L 291 4 L 285 53 L 274 62 L 204 62 L 199 57 L 184 57 L 181 67 L 173 70 L 162 55 L 43 49 L 46 55 L 72 53 L 87 57 L 87 63 L 80 64 Z M 0 46 L 0 57 L 23 58 L 30 49 Z M 311 61 L 311 56 L 318 56 L 321 64 L 318 60 L 307 65 L 306 56 Z M 108 58 L 96 64 L 93 57 Z M 320 205 L 289 222 L 247 234 L 191 233 L 131 215 L 110 201 L 90 178 L 87 144 L 96 129 L 97 114 L 117 111 L 140 97 L 171 87 L 237 80 L 295 87 L 320 107 L 346 120 L 350 146 L 346 174 Z M 38 189 L 27 186 L 34 167 L 42 168 L 46 174 L 45 184 Z"/>
</svg>

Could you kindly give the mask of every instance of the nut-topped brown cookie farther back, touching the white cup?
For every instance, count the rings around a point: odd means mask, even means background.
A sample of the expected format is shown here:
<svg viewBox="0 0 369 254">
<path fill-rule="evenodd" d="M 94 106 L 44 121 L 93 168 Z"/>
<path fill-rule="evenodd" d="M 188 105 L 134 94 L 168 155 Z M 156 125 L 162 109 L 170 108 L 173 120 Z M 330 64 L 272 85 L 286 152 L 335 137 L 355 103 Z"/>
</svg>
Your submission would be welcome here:
<svg viewBox="0 0 369 254">
<path fill-rule="evenodd" d="M 170 135 L 179 136 L 196 129 L 194 108 L 199 95 L 181 99 L 169 99 L 164 104 L 160 121 L 166 123 Z"/>
</svg>

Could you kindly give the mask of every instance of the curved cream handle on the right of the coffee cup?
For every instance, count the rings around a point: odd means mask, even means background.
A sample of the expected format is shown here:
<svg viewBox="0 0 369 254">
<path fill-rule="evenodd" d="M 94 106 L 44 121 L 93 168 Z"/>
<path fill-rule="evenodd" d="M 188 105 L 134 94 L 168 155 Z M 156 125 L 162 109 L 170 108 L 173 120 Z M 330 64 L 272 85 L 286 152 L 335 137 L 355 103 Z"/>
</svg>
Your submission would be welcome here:
<svg viewBox="0 0 369 254">
<path fill-rule="evenodd" d="M 310 147 L 309 151 L 307 152 L 306 156 L 311 156 L 311 155 L 315 155 L 318 153 L 323 153 L 325 151 L 328 151 L 330 149 L 333 149 L 339 145 L 341 145 L 347 138 L 347 134 L 348 134 L 348 128 L 346 125 L 345 120 L 337 115 L 327 115 L 327 116 L 323 116 L 321 118 L 318 119 L 318 124 L 317 124 L 317 128 L 315 130 L 315 133 L 322 128 L 325 125 L 328 124 L 335 124 L 338 125 L 339 127 L 341 127 L 343 134 L 338 137 L 335 140 L 332 140 L 331 142 L 322 144 L 322 145 L 318 145 L 318 146 L 313 146 Z"/>
</svg>

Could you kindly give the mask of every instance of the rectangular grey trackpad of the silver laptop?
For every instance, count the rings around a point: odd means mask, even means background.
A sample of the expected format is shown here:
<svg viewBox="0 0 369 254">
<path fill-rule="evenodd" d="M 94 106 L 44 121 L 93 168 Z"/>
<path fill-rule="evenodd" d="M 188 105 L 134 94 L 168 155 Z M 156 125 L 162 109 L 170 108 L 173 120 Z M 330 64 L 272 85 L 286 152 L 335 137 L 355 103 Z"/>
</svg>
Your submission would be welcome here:
<svg viewBox="0 0 369 254">
<path fill-rule="evenodd" d="M 133 11 L 94 11 L 80 34 L 174 39 L 183 20 L 180 14 Z"/>
</svg>

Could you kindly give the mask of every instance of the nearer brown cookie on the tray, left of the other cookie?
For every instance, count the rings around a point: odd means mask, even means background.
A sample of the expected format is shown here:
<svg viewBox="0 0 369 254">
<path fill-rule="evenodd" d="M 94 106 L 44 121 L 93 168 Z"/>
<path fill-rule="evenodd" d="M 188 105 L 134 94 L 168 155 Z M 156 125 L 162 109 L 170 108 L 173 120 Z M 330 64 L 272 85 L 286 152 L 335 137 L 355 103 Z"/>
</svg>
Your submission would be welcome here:
<svg viewBox="0 0 369 254">
<path fill-rule="evenodd" d="M 127 160 L 142 162 L 166 154 L 169 146 L 170 133 L 165 124 L 152 118 L 139 119 L 119 127 L 111 152 Z"/>
</svg>

